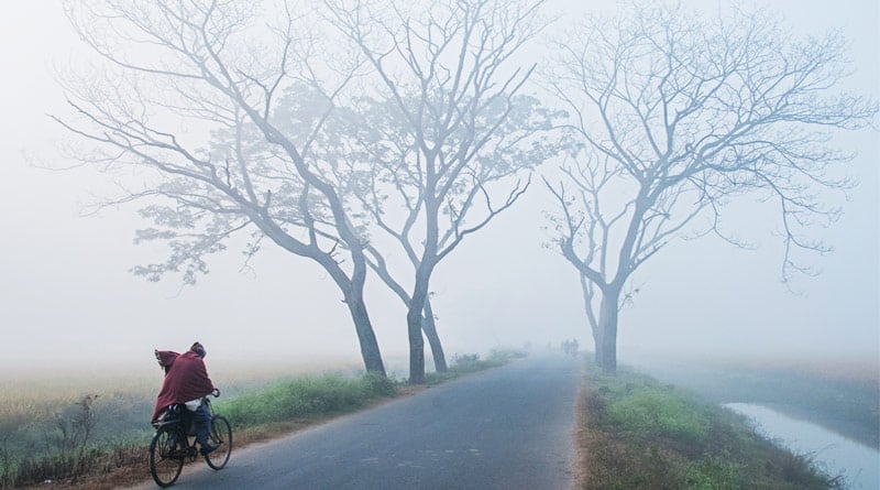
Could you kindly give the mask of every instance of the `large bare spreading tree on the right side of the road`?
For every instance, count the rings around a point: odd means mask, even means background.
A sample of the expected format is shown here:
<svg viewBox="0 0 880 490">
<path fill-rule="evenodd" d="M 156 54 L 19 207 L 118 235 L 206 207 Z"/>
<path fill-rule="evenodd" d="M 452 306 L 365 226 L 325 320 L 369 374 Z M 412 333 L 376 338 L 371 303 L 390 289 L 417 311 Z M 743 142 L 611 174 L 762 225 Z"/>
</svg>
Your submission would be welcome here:
<svg viewBox="0 0 880 490">
<path fill-rule="evenodd" d="M 831 132 L 877 113 L 875 101 L 835 90 L 848 73 L 838 33 L 796 40 L 765 13 L 631 7 L 558 40 L 547 77 L 572 116 L 562 176 L 546 179 L 556 243 L 581 274 L 606 372 L 631 274 L 685 232 L 737 244 L 721 226 L 737 196 L 776 204 L 783 281 L 811 273 L 799 252 L 829 249 L 807 230 L 839 213 L 821 190 L 849 185 L 835 172 L 851 155 Z"/>
</svg>

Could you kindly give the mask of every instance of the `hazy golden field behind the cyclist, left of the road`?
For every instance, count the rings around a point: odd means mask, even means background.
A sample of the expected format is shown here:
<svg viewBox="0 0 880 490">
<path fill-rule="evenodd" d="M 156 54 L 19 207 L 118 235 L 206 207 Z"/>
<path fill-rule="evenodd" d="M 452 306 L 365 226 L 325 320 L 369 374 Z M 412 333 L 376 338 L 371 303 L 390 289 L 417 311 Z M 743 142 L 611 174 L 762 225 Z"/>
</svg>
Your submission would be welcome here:
<svg viewBox="0 0 880 490">
<path fill-rule="evenodd" d="M 209 361 L 221 389 L 218 406 L 241 393 L 293 378 L 328 373 L 355 379 L 358 362 Z M 6 369 L 0 379 L 0 488 L 108 472 L 132 464 L 153 433 L 150 415 L 163 372 L 156 364 L 64 369 Z M 141 475 L 140 478 L 143 478 Z M 29 483 L 30 484 L 30 483 Z"/>
</svg>

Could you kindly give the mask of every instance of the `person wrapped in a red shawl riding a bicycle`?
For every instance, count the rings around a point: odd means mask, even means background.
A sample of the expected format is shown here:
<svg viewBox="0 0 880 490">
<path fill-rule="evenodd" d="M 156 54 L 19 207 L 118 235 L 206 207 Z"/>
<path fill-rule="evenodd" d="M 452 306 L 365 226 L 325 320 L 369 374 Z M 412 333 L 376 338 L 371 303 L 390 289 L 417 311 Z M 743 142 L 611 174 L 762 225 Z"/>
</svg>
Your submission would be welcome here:
<svg viewBox="0 0 880 490">
<path fill-rule="evenodd" d="M 156 422 L 162 413 L 175 403 L 186 405 L 191 414 L 196 428 L 196 442 L 199 443 L 201 454 L 207 455 L 217 449 L 208 442 L 211 432 L 211 414 L 202 399 L 213 393 L 220 395 L 220 390 L 215 388 L 208 369 L 205 367 L 205 347 L 195 342 L 184 353 L 172 350 L 154 350 L 158 364 L 165 370 L 165 381 L 156 399 L 152 421 Z"/>
</svg>

